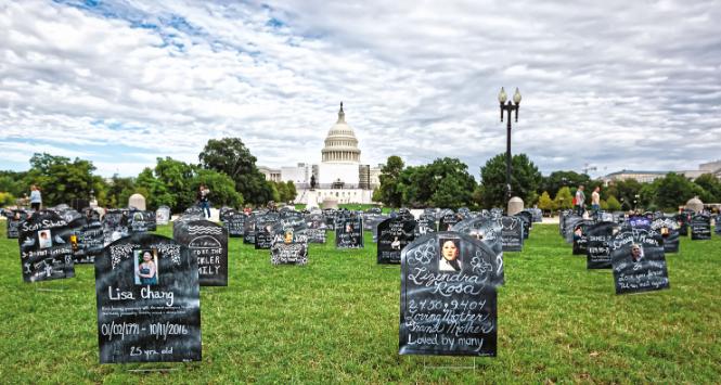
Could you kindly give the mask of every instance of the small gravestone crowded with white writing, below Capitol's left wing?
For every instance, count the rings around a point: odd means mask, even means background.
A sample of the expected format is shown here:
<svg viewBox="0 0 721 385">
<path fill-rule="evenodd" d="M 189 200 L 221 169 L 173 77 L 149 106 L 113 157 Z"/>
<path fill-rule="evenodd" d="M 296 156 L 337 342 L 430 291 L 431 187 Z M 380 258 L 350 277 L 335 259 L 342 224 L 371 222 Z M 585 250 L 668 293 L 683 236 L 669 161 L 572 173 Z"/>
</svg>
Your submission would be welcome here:
<svg viewBox="0 0 721 385">
<path fill-rule="evenodd" d="M 270 246 L 272 265 L 306 265 L 308 264 L 308 235 L 305 226 L 293 227 L 275 224 Z"/>
</svg>

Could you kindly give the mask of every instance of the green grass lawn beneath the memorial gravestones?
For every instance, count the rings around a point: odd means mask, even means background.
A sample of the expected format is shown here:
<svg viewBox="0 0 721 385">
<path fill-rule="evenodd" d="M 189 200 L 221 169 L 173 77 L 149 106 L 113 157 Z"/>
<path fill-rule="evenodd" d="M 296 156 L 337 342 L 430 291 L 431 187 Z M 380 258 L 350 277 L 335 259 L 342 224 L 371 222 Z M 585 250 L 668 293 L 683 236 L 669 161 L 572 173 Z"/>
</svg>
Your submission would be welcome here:
<svg viewBox="0 0 721 385">
<path fill-rule="evenodd" d="M 0 230 L 0 383 L 719 383 L 721 238 L 682 240 L 671 288 L 617 296 L 555 226 L 505 254 L 499 357 L 398 356 L 400 268 L 362 251 L 311 245 L 306 267 L 230 243 L 228 287 L 203 287 L 203 361 L 99 364 L 92 266 L 22 281 L 16 240 Z M 159 233 L 171 234 L 170 227 Z M 456 365 L 474 369 L 440 369 Z M 130 372 L 169 368 L 168 372 Z"/>
</svg>

